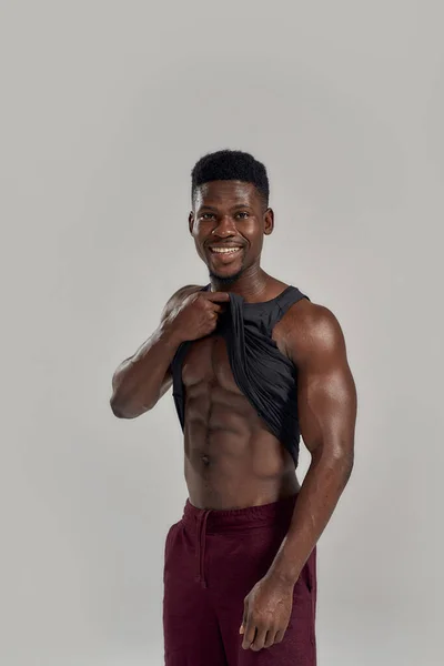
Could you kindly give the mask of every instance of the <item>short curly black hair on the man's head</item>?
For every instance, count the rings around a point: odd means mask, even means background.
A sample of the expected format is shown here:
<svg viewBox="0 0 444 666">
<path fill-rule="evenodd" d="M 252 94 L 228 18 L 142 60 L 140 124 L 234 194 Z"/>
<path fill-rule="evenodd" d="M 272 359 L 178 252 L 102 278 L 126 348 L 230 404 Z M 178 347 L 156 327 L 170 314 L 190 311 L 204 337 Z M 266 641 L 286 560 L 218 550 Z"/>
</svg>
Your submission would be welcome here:
<svg viewBox="0 0 444 666">
<path fill-rule="evenodd" d="M 241 150 L 219 150 L 196 162 L 191 172 L 191 200 L 199 185 L 214 180 L 240 180 L 253 183 L 269 205 L 270 185 L 266 169 L 250 153 Z"/>
</svg>

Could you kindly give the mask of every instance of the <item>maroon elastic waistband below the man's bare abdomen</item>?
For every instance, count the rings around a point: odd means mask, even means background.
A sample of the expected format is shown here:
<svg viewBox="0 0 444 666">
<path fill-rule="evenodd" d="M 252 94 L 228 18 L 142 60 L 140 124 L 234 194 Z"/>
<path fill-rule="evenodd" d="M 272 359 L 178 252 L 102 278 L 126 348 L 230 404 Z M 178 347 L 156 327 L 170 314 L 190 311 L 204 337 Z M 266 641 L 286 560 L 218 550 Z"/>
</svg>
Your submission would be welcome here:
<svg viewBox="0 0 444 666">
<path fill-rule="evenodd" d="M 236 529 L 249 529 L 264 525 L 282 524 L 291 519 L 297 493 L 270 504 L 246 506 L 244 508 L 198 508 L 188 498 L 182 519 L 190 526 L 198 526 L 205 521 L 208 533 Z"/>
</svg>

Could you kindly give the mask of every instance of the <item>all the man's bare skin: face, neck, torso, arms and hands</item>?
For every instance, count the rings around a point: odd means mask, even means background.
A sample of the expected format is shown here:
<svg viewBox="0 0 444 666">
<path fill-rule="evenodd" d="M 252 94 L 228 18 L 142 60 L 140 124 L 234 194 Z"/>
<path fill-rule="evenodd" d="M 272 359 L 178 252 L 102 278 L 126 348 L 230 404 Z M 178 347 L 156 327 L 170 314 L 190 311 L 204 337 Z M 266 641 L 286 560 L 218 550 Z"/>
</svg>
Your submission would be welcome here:
<svg viewBox="0 0 444 666">
<path fill-rule="evenodd" d="M 300 485 L 289 452 L 238 389 L 224 341 L 213 333 L 228 291 L 254 303 L 274 299 L 286 286 L 260 265 L 273 211 L 251 183 L 213 181 L 198 189 L 189 225 L 214 293 L 189 285 L 170 299 L 159 330 L 114 373 L 111 405 L 121 417 L 152 408 L 171 386 L 168 366 L 178 345 L 193 340 L 182 374 L 190 502 L 200 508 L 243 508 L 299 493 L 268 574 L 244 599 L 242 646 L 259 650 L 282 640 L 295 582 L 350 478 L 356 390 L 334 314 L 305 299 L 292 305 L 272 336 L 299 372 L 301 435 L 311 454 Z M 213 245 L 240 250 L 213 253 Z"/>
</svg>

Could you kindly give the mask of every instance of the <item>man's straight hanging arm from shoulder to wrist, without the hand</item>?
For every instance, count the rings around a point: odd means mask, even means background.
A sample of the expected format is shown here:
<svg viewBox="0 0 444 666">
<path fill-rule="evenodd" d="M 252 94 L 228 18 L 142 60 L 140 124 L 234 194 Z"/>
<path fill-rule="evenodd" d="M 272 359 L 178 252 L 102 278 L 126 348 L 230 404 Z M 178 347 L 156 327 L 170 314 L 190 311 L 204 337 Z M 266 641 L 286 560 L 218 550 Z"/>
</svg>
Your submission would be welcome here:
<svg viewBox="0 0 444 666">
<path fill-rule="evenodd" d="M 299 371 L 299 420 L 311 453 L 289 532 L 269 575 L 294 584 L 350 478 L 354 457 L 356 389 L 345 341 L 333 313 L 307 303 L 294 315 L 285 346 Z"/>
</svg>

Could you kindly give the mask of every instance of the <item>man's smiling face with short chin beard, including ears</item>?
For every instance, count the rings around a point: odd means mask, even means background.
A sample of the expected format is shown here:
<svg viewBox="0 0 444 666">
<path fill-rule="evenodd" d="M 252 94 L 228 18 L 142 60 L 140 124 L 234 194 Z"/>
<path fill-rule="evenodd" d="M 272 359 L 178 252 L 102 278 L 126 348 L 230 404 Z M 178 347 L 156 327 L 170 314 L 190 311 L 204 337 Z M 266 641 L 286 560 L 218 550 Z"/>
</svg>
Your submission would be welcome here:
<svg viewBox="0 0 444 666">
<path fill-rule="evenodd" d="M 189 224 L 210 275 L 228 282 L 259 265 L 263 236 L 273 231 L 273 211 L 252 183 L 211 181 L 198 188 Z"/>
</svg>

